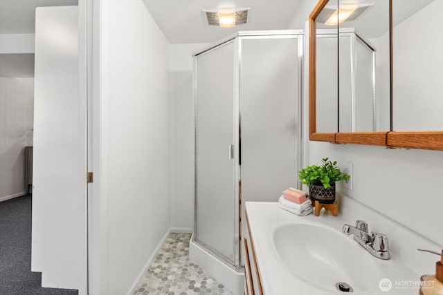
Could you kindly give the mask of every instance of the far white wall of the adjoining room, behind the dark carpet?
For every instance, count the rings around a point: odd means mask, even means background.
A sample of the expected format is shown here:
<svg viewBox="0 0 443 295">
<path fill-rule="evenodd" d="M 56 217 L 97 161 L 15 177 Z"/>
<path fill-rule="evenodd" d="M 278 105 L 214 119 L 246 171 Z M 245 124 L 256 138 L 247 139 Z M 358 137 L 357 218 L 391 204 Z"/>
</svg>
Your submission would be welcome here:
<svg viewBox="0 0 443 295">
<path fill-rule="evenodd" d="M 33 145 L 34 79 L 0 77 L 0 201 L 26 194 L 24 147 Z"/>
</svg>

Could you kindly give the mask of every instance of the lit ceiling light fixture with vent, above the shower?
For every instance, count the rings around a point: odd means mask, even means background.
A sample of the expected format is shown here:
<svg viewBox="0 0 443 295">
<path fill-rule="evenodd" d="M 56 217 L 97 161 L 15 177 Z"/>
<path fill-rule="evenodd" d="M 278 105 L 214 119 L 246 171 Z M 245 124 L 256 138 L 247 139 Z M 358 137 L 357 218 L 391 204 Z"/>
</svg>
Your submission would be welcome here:
<svg viewBox="0 0 443 295">
<path fill-rule="evenodd" d="M 233 28 L 248 21 L 250 8 L 220 8 L 218 10 L 204 10 L 208 24 L 221 28 Z"/>
</svg>

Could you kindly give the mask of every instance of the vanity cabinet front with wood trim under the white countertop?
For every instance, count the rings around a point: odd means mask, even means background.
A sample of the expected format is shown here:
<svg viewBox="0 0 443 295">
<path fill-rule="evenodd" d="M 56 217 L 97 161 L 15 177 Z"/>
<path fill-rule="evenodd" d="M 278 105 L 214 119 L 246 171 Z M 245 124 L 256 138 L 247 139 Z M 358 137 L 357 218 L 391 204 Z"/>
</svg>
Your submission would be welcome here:
<svg viewBox="0 0 443 295">
<path fill-rule="evenodd" d="M 244 237 L 244 293 L 246 295 L 262 295 L 262 282 L 260 280 L 260 272 L 257 266 L 257 258 L 255 255 L 254 242 L 249 230 L 248 212 L 246 213 L 246 236 Z"/>
</svg>

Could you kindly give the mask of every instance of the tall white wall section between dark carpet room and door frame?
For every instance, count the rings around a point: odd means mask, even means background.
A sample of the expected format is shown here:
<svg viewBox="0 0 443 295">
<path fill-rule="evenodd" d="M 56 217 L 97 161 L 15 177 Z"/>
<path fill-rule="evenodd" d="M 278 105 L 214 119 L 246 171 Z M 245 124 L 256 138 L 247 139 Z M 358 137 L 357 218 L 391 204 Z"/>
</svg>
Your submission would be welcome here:
<svg viewBox="0 0 443 295">
<path fill-rule="evenodd" d="M 32 270 L 78 289 L 78 8 L 36 10 Z"/>
</svg>

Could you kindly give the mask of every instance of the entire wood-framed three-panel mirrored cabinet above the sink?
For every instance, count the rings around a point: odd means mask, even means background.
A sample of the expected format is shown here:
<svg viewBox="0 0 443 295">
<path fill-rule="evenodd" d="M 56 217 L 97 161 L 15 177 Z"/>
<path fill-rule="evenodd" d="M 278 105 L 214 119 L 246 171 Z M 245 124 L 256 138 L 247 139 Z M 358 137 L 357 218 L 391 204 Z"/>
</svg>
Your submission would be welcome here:
<svg viewBox="0 0 443 295">
<path fill-rule="evenodd" d="M 443 150 L 442 12 L 442 0 L 319 0 L 309 16 L 309 140 Z M 320 33 L 333 44 L 334 31 L 338 50 L 326 50 Z M 337 87 L 325 84 L 334 73 Z"/>
</svg>

